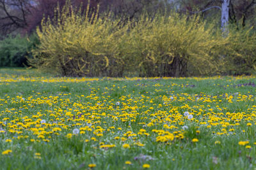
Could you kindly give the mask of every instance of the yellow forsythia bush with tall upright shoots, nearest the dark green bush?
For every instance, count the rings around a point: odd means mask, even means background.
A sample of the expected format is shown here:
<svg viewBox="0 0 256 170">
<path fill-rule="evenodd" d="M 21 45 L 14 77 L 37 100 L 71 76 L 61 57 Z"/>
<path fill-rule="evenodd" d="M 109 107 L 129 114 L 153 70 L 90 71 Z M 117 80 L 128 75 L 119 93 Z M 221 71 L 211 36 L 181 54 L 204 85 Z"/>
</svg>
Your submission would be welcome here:
<svg viewBox="0 0 256 170">
<path fill-rule="evenodd" d="M 127 27 L 109 18 L 89 13 L 89 6 L 83 15 L 68 1 L 56 9 L 54 20 L 43 20 L 36 30 L 41 44 L 30 64 L 63 76 L 122 76 L 119 48 Z"/>
</svg>

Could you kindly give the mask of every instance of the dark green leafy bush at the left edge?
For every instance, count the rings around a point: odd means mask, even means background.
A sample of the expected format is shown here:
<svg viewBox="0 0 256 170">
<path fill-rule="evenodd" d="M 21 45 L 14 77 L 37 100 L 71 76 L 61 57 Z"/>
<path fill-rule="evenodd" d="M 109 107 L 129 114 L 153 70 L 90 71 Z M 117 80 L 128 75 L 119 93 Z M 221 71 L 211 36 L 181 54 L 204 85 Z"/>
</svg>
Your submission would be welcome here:
<svg viewBox="0 0 256 170">
<path fill-rule="evenodd" d="M 0 66 L 1 67 L 24 67 L 27 58 L 31 57 L 29 51 L 38 43 L 36 35 L 21 37 L 20 35 L 8 36 L 0 41 Z"/>
</svg>

